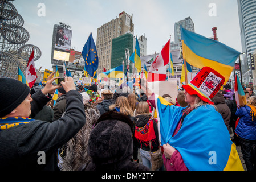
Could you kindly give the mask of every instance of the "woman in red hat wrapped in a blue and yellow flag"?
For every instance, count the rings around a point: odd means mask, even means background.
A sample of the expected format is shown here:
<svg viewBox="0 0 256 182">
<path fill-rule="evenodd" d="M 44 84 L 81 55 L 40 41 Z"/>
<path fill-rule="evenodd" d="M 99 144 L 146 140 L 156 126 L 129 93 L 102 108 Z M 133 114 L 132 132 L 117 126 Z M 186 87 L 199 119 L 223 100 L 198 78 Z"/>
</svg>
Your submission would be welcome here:
<svg viewBox="0 0 256 182">
<path fill-rule="evenodd" d="M 188 106 L 178 107 L 152 93 L 144 80 L 142 89 L 159 115 L 166 170 L 243 170 L 225 123 L 210 101 L 224 81 L 212 68 L 202 68 L 182 86 Z"/>
</svg>

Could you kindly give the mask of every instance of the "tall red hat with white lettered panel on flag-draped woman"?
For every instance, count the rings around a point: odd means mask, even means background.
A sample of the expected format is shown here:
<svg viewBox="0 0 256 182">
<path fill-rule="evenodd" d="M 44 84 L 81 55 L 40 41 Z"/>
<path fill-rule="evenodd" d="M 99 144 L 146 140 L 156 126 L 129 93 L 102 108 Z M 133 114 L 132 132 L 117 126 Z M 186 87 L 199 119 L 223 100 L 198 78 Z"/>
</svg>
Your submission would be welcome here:
<svg viewBox="0 0 256 182">
<path fill-rule="evenodd" d="M 210 67 L 203 67 L 188 85 L 182 85 L 182 87 L 190 95 L 197 95 L 201 100 L 214 104 L 211 99 L 224 82 L 225 78 L 220 73 Z"/>
</svg>

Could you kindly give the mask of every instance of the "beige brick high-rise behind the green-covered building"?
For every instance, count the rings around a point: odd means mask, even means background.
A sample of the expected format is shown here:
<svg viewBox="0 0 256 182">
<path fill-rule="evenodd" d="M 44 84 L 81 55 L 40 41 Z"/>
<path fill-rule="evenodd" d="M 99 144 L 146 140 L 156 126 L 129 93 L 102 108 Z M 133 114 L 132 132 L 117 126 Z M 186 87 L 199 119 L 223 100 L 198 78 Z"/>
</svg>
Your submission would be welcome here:
<svg viewBox="0 0 256 182">
<path fill-rule="evenodd" d="M 124 11 L 119 14 L 119 18 L 113 19 L 97 29 L 98 72 L 103 72 L 103 68 L 111 69 L 112 39 L 124 35 L 126 32 L 133 34 L 134 24 L 132 23 L 132 16 Z"/>
</svg>

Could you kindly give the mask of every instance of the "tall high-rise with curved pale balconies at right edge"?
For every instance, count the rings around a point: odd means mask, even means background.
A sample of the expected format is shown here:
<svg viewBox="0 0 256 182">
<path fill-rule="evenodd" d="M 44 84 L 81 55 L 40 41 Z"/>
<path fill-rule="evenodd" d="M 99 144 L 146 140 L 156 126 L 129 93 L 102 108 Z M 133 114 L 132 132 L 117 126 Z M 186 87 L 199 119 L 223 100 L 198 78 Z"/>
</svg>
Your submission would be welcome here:
<svg viewBox="0 0 256 182">
<path fill-rule="evenodd" d="M 256 1 L 237 0 L 237 3 L 243 53 L 242 78 L 243 84 L 247 86 L 256 76 L 250 60 L 256 49 Z"/>
</svg>

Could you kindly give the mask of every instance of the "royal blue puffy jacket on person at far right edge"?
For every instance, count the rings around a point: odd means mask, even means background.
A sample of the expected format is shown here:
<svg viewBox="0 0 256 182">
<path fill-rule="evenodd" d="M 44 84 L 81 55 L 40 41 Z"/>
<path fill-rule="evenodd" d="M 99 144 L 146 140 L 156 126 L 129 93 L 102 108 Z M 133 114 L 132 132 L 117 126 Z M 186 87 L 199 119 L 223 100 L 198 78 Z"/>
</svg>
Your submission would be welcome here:
<svg viewBox="0 0 256 182">
<path fill-rule="evenodd" d="M 240 120 L 235 129 L 235 133 L 237 133 L 239 137 L 247 140 L 256 140 L 256 117 L 252 117 L 254 113 L 251 111 L 251 108 L 247 105 L 237 110 L 235 115 L 237 115 Z"/>
</svg>

